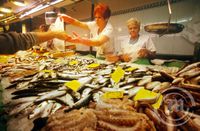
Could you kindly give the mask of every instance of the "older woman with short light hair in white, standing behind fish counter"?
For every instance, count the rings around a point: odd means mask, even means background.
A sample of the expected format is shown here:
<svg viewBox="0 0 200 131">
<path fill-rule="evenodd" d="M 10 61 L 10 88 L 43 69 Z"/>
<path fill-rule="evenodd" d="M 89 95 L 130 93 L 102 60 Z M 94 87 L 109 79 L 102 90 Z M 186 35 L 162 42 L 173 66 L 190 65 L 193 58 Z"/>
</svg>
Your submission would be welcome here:
<svg viewBox="0 0 200 131">
<path fill-rule="evenodd" d="M 156 55 L 156 48 L 149 36 L 140 35 L 140 21 L 130 18 L 127 21 L 130 37 L 122 43 L 122 61 L 134 61 L 137 58 L 153 58 Z"/>
</svg>

